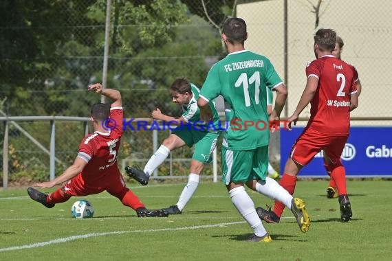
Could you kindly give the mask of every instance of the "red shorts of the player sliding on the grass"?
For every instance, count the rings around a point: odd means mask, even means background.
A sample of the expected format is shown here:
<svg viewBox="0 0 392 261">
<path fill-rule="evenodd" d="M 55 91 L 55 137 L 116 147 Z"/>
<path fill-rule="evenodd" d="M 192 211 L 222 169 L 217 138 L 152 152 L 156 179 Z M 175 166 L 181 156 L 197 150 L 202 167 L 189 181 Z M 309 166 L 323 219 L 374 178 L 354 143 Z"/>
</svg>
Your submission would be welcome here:
<svg viewBox="0 0 392 261">
<path fill-rule="evenodd" d="M 64 186 L 64 192 L 71 196 L 87 196 L 98 194 L 105 190 L 109 194 L 119 195 L 124 189 L 127 188 L 125 187 L 125 182 L 120 171 L 102 177 L 94 182 L 89 182 L 83 179 L 82 174 L 78 174 L 78 176 L 68 181 Z"/>
</svg>

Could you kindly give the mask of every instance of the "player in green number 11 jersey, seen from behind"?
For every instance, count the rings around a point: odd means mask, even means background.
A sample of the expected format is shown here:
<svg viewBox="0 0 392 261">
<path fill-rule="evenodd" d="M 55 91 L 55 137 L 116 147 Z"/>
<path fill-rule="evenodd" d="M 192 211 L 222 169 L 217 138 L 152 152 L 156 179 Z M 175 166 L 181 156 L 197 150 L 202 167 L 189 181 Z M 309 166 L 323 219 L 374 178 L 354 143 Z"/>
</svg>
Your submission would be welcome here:
<svg viewBox="0 0 392 261">
<path fill-rule="evenodd" d="M 229 54 L 208 72 L 197 104 L 204 122 L 213 119 L 208 102 L 218 95 L 222 95 L 226 104 L 231 106 L 226 119 L 230 124 L 225 131 L 221 150 L 223 179 L 232 203 L 254 230 L 254 235 L 248 241 L 270 242 L 272 239 L 261 223 L 244 184 L 285 203 L 292 209 L 301 231 L 306 232 L 310 220 L 305 203 L 300 198 L 293 198 L 274 179 L 265 177 L 270 132 L 262 125 L 263 122 L 268 124 L 268 120 L 279 121 L 287 98 L 286 87 L 268 58 L 245 49 L 248 33 L 243 19 L 227 19 L 221 37 Z M 276 91 L 270 119 L 267 113 L 267 87 Z M 233 120 L 237 123 L 234 124 Z"/>
</svg>

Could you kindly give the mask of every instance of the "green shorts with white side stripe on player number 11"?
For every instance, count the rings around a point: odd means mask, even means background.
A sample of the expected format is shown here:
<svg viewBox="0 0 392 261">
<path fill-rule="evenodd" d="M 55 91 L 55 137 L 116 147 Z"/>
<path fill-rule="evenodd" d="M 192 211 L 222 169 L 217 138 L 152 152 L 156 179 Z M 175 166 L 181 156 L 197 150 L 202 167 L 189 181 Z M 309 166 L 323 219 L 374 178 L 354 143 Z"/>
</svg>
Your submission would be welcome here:
<svg viewBox="0 0 392 261">
<path fill-rule="evenodd" d="M 223 181 L 246 183 L 247 181 L 265 180 L 268 170 L 268 146 L 254 150 L 221 149 Z"/>
</svg>

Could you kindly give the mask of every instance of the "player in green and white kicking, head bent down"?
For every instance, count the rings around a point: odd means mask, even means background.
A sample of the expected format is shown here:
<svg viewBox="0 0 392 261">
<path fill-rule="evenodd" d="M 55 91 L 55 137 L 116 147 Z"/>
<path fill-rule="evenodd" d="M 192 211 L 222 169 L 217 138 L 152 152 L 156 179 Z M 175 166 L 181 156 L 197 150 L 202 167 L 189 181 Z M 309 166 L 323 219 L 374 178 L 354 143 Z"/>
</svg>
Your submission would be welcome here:
<svg viewBox="0 0 392 261">
<path fill-rule="evenodd" d="M 219 115 L 213 102 L 208 104 L 213 111 L 212 121 L 209 124 L 204 124 L 200 121 L 200 109 L 197 106 L 200 90 L 186 78 L 177 78 L 171 84 L 170 91 L 173 102 L 182 106 L 183 113 L 181 117 L 164 115 L 160 109 L 156 109 L 151 115 L 155 120 L 169 122 L 169 126 L 177 125 L 177 130 L 164 139 L 160 148 L 144 166 L 144 170 L 138 170 L 135 166 L 128 166 L 126 170 L 129 176 L 139 181 L 142 185 L 146 185 L 150 175 L 164 162 L 172 150 L 184 145 L 188 147 L 195 146 L 192 161 L 190 161 L 188 183 L 182 190 L 177 204 L 164 209 L 168 214 L 181 214 L 186 203 L 190 201 L 199 185 L 200 174 L 204 164 L 212 161 L 211 155 L 217 145 L 217 139 L 223 127 L 220 124 Z"/>
</svg>

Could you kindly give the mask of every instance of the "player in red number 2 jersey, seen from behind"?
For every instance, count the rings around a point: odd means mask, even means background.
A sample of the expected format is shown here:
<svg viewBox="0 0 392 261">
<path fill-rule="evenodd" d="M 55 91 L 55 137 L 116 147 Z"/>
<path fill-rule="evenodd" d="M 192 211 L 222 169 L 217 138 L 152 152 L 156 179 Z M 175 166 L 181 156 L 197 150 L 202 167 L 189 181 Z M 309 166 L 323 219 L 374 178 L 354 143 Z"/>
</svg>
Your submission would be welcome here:
<svg viewBox="0 0 392 261">
<path fill-rule="evenodd" d="M 292 146 L 279 184 L 294 194 L 298 172 L 320 150 L 324 150 L 330 159 L 327 168 L 340 193 L 340 218 L 347 222 L 352 212 L 347 196 L 345 167 L 342 166 L 340 155 L 349 137 L 350 111 L 358 106 L 358 95 L 353 67 L 332 55 L 335 43 L 334 30 L 320 29 L 314 36 L 314 54 L 317 59 L 307 65 L 305 90 L 296 110 L 287 120 L 291 128 L 309 102 L 310 119 Z M 283 203 L 275 201 L 273 211 L 258 207 L 257 213 L 268 223 L 279 223 L 284 207 Z"/>
</svg>

